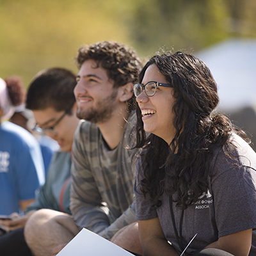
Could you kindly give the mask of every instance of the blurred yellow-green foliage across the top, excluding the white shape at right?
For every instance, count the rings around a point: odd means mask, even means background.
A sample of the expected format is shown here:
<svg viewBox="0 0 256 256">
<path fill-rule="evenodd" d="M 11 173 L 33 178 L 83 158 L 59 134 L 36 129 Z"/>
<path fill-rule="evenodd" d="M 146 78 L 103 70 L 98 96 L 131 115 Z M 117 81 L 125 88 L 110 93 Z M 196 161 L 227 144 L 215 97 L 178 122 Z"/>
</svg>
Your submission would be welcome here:
<svg viewBox="0 0 256 256">
<path fill-rule="evenodd" d="M 255 0 L 0 0 L 0 77 L 22 76 L 28 86 L 43 68 L 77 72 L 77 49 L 99 40 L 147 57 L 255 37 L 255 13 Z"/>
</svg>

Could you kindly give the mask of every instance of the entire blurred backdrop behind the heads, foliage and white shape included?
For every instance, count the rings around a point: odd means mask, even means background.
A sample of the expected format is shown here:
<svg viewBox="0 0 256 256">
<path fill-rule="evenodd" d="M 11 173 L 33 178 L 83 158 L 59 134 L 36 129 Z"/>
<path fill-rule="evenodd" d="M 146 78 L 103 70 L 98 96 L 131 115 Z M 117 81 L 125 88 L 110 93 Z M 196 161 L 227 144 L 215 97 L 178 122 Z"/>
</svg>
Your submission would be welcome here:
<svg viewBox="0 0 256 256">
<path fill-rule="evenodd" d="M 256 137 L 255 13 L 255 0 L 0 0 L 0 77 L 28 86 L 43 68 L 76 73 L 77 49 L 100 40 L 143 60 L 160 48 L 192 52 L 218 83 L 221 111 Z"/>
</svg>

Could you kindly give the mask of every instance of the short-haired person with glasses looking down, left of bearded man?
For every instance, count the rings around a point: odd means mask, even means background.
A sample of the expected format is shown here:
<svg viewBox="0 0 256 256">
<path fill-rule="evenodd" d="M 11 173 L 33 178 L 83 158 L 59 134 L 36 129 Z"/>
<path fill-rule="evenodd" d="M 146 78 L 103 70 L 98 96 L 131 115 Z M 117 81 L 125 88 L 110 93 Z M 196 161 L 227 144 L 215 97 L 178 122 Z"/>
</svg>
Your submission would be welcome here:
<svg viewBox="0 0 256 256">
<path fill-rule="evenodd" d="M 74 132 L 79 123 L 76 116 L 74 88 L 76 76 L 64 68 L 43 70 L 33 79 L 26 100 L 26 108 L 34 113 L 34 130 L 58 141 L 60 150 L 54 153 L 44 186 L 38 191 L 36 201 L 29 205 L 24 216 L 4 220 L 9 230 L 0 237 L 3 255 L 32 255 L 24 239 L 24 225 L 39 209 L 52 209 L 70 216 L 70 168 Z M 17 246 L 13 246 L 17 244 Z"/>
</svg>

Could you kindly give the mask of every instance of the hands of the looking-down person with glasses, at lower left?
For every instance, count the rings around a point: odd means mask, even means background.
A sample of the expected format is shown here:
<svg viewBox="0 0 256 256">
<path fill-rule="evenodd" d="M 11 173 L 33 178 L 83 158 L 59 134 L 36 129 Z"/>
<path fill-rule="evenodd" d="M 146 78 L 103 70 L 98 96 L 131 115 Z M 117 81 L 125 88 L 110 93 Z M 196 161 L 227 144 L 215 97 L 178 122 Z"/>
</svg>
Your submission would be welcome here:
<svg viewBox="0 0 256 256">
<path fill-rule="evenodd" d="M 20 216 L 19 213 L 13 212 L 12 214 L 10 214 L 10 220 L 0 220 L 0 225 L 4 226 L 4 230 L 6 230 L 6 232 L 10 232 L 11 230 L 15 230 L 17 228 L 23 228 L 25 227 L 29 216 L 31 216 L 33 212 L 34 211 L 30 211 L 24 216 Z"/>
</svg>

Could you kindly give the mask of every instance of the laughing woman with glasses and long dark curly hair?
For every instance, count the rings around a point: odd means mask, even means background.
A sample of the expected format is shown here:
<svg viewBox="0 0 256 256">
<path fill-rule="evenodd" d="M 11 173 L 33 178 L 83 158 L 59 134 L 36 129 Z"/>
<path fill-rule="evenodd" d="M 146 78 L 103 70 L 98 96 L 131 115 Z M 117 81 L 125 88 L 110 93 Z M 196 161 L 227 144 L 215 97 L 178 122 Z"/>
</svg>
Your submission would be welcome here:
<svg viewBox="0 0 256 256">
<path fill-rule="evenodd" d="M 214 114 L 209 68 L 168 52 L 148 61 L 139 82 L 134 192 L 144 255 L 256 255 L 256 154 Z"/>
</svg>

